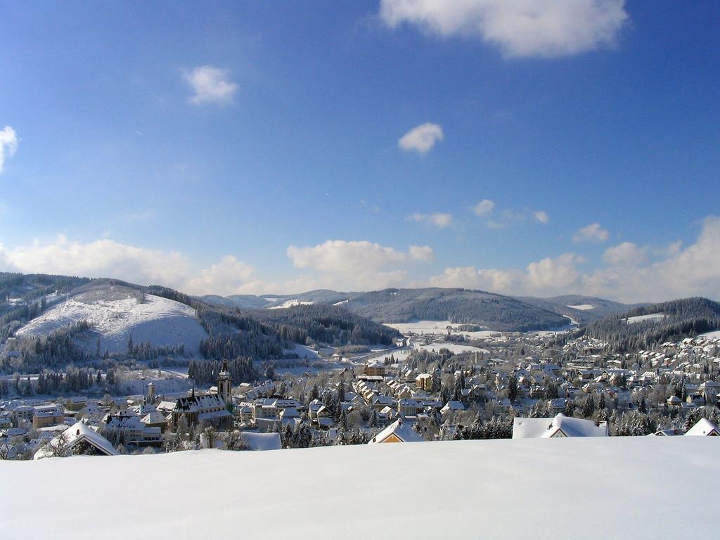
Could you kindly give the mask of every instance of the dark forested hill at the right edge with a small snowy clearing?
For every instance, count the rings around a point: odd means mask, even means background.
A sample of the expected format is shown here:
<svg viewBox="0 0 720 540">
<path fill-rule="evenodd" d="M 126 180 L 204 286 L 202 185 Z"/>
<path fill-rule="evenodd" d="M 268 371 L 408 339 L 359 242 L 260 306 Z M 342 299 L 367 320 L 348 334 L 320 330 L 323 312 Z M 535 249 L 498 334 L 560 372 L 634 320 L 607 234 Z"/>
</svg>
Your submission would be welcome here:
<svg viewBox="0 0 720 540">
<path fill-rule="evenodd" d="M 597 338 L 621 350 L 651 348 L 720 328 L 720 303 L 695 297 L 635 307 L 591 323 L 577 335 Z"/>
</svg>

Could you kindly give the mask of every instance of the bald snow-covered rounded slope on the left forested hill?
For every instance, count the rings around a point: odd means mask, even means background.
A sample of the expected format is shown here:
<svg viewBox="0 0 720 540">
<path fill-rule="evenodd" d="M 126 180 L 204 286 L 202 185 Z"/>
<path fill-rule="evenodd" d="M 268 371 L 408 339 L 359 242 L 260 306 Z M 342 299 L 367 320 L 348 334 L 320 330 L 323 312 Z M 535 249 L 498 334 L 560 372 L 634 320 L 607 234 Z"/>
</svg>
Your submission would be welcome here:
<svg viewBox="0 0 720 540">
<path fill-rule="evenodd" d="M 100 336 L 101 351 L 125 351 L 127 340 L 153 346 L 184 343 L 188 353 L 197 354 L 199 342 L 207 338 L 192 307 L 167 298 L 140 294 L 121 285 L 87 286 L 50 307 L 17 331 L 18 336 L 38 336 L 87 320 Z M 87 347 L 94 350 L 94 338 Z"/>
</svg>

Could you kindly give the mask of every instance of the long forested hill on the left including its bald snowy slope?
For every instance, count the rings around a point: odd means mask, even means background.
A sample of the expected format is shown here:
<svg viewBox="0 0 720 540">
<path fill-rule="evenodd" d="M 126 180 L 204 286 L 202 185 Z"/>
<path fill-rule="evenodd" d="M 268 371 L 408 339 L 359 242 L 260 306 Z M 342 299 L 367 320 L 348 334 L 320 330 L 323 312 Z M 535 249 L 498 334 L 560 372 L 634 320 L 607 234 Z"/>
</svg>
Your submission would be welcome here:
<svg viewBox="0 0 720 540">
<path fill-rule="evenodd" d="M 0 274 L 0 291 L 4 372 L 37 371 L 100 356 L 268 360 L 292 356 L 288 349 L 308 339 L 333 346 L 389 345 L 400 336 L 342 307 L 240 310 L 167 287 L 117 279 Z"/>
</svg>

